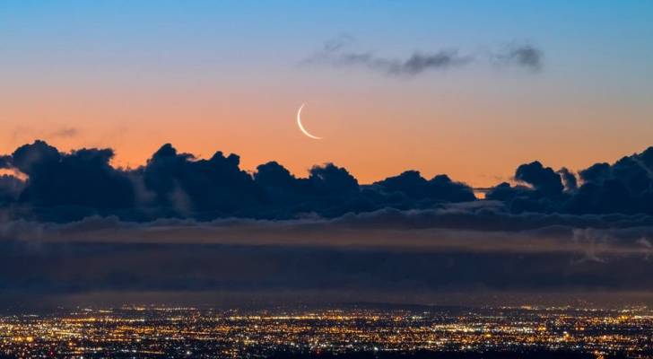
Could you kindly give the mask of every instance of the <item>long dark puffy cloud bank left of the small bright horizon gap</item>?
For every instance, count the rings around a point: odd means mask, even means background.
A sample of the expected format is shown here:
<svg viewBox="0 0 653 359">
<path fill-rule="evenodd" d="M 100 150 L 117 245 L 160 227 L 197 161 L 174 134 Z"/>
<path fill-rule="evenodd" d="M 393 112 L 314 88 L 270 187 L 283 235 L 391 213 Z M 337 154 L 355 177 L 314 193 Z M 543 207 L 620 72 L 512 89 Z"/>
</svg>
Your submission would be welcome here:
<svg viewBox="0 0 653 359">
<path fill-rule="evenodd" d="M 170 216 L 205 221 L 228 216 L 336 217 L 387 206 L 416 208 L 475 199 L 471 188 L 445 175 L 424 180 L 415 172 L 413 177 L 423 182 L 418 194 L 397 185 L 397 180 L 361 186 L 333 163 L 311 168 L 307 178 L 295 178 L 277 162 L 249 174 L 239 168 L 236 154 L 216 152 L 209 159 L 197 159 L 178 153 L 171 144 L 161 146 L 135 170 L 113 168 L 112 157 L 110 149 L 62 153 L 43 141 L 22 145 L 0 158 L 0 165 L 22 172 L 27 180 L 7 177 L 0 183 L 0 195 L 17 218 L 55 222 L 89 215 L 134 221 Z"/>
</svg>

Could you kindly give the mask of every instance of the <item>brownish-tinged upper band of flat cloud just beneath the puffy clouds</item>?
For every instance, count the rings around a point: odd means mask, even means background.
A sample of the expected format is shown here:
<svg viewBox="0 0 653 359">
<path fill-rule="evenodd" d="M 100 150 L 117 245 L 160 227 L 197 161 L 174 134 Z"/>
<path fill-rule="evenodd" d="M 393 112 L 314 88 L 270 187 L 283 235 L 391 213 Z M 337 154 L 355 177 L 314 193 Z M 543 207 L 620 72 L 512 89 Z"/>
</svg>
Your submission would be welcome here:
<svg viewBox="0 0 653 359">
<path fill-rule="evenodd" d="M 330 219 L 230 217 L 206 222 L 161 218 L 127 222 L 118 216 L 95 215 L 70 223 L 4 221 L 0 223 L 0 240 L 575 251 L 575 246 L 570 248 L 573 232 L 588 229 L 594 230 L 596 237 L 600 233 L 600 237 L 613 238 L 617 247 L 639 248 L 641 239 L 653 236 L 653 216 L 516 214 L 498 201 L 440 204 L 419 210 L 384 208 Z"/>
</svg>

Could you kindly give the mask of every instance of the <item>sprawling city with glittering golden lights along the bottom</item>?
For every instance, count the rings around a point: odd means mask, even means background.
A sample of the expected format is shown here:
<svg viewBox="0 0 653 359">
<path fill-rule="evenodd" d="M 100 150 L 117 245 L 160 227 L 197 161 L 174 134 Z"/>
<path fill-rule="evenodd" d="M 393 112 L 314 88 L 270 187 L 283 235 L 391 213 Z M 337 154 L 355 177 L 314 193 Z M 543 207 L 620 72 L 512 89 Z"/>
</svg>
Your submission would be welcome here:
<svg viewBox="0 0 653 359">
<path fill-rule="evenodd" d="M 653 357 L 647 307 L 217 310 L 75 308 L 4 313 L 11 358 Z"/>
</svg>

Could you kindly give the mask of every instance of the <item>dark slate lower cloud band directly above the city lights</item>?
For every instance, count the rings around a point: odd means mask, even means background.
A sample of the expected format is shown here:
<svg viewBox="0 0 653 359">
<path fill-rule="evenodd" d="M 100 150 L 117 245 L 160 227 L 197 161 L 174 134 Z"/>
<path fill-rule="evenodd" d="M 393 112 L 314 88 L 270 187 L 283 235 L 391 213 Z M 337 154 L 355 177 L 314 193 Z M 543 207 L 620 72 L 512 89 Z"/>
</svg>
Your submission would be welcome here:
<svg viewBox="0 0 653 359">
<path fill-rule="evenodd" d="M 569 253 L 350 250 L 209 244 L 0 245 L 3 295 L 97 291 L 647 291 L 643 256 L 580 260 Z M 75 268 L 84 268 L 83 270 Z M 13 275 L 21 273 L 20 276 Z M 295 299 L 296 300 L 296 299 Z M 342 301 L 343 298 L 340 298 Z"/>
</svg>

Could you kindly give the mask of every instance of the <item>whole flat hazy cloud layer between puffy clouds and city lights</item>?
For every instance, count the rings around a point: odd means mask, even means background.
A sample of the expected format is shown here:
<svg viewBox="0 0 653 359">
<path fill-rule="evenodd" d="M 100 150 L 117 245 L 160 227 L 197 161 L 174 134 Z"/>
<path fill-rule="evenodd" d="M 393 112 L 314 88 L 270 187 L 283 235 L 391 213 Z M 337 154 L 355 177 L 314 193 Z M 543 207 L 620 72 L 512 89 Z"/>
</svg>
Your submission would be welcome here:
<svg viewBox="0 0 653 359">
<path fill-rule="evenodd" d="M 605 228 L 583 228 L 596 223 Z M 330 288 L 340 300 L 380 291 L 406 302 L 424 292 L 648 291 L 652 235 L 651 217 L 515 215 L 497 203 L 284 221 L 9 221 L 0 224 L 0 288 L 3 295 Z"/>
</svg>

